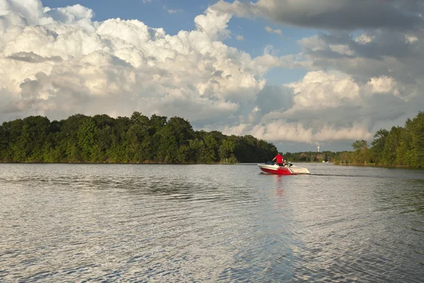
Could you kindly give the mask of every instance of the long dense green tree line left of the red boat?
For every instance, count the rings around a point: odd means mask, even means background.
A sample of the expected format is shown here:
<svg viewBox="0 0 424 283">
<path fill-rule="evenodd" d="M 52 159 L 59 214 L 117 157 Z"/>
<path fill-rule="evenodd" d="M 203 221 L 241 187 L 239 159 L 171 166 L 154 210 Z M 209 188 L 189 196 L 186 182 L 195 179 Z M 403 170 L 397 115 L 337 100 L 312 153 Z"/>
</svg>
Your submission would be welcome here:
<svg viewBox="0 0 424 283">
<path fill-rule="evenodd" d="M 267 161 L 276 146 L 252 136 L 194 131 L 180 117 L 30 116 L 0 126 L 0 162 L 248 163 Z M 271 157 L 271 158 L 272 158 Z"/>
</svg>

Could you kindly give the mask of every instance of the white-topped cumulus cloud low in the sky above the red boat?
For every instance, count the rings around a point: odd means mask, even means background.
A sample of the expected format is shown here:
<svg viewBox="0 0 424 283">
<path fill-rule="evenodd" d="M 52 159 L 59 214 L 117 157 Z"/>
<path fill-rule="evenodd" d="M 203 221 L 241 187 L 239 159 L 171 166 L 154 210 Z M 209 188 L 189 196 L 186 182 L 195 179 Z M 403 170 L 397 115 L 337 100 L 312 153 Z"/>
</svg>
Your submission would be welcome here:
<svg viewBox="0 0 424 283">
<path fill-rule="evenodd" d="M 377 129 L 390 128 L 394 122 L 403 125 L 406 112 L 411 113 L 399 87 L 385 76 L 360 83 L 338 72 L 310 71 L 295 83 L 266 86 L 249 119 L 222 130 L 277 144 L 370 140 Z M 422 107 L 423 99 L 418 101 Z"/>
</svg>

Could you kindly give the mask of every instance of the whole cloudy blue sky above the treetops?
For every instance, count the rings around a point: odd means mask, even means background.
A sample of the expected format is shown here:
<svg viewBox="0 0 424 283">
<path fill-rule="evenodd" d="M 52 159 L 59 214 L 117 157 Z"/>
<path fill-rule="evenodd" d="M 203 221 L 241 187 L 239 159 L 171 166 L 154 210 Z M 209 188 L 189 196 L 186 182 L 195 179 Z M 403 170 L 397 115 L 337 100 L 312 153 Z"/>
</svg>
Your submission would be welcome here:
<svg viewBox="0 0 424 283">
<path fill-rule="evenodd" d="M 421 0 L 0 0 L 0 123 L 184 117 L 352 150 L 424 110 Z"/>
</svg>

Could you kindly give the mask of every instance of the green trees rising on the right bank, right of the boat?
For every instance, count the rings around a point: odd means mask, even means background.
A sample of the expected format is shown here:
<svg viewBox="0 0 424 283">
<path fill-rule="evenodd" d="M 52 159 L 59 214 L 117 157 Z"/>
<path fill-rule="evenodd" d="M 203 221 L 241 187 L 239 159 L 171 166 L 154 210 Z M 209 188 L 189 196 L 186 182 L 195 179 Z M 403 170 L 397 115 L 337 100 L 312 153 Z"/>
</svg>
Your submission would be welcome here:
<svg viewBox="0 0 424 283">
<path fill-rule="evenodd" d="M 379 129 L 371 146 L 364 139 L 352 146 L 353 151 L 341 153 L 336 163 L 424 168 L 424 112 L 408 118 L 404 127 Z"/>
</svg>

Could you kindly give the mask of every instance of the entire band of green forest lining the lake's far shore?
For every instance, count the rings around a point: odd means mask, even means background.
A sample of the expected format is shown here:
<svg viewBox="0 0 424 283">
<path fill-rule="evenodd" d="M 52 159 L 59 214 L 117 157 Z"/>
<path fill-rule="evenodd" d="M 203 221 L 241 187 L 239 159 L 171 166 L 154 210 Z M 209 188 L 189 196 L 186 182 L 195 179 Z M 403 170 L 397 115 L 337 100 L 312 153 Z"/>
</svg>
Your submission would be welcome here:
<svg viewBox="0 0 424 283">
<path fill-rule="evenodd" d="M 424 112 L 404 127 L 379 129 L 353 151 L 286 152 L 286 161 L 424 168 Z M 131 117 L 73 115 L 66 120 L 30 116 L 0 126 L 0 162 L 18 163 L 257 163 L 276 146 L 252 136 L 194 131 L 180 117 L 140 112 Z"/>
</svg>

